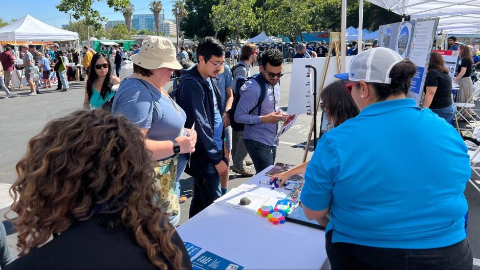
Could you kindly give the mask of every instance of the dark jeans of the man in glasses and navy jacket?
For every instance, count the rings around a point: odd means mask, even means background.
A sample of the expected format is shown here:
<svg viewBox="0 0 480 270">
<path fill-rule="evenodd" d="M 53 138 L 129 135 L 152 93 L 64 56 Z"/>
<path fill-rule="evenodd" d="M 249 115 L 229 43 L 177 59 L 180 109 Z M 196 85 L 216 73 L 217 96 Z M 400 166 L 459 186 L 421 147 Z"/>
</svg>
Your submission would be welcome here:
<svg viewBox="0 0 480 270">
<path fill-rule="evenodd" d="M 205 174 L 205 178 L 194 178 L 189 218 L 197 215 L 200 211 L 213 204 L 214 200 L 222 196 L 220 177 L 215 166 L 209 163 L 205 168 Z"/>
</svg>

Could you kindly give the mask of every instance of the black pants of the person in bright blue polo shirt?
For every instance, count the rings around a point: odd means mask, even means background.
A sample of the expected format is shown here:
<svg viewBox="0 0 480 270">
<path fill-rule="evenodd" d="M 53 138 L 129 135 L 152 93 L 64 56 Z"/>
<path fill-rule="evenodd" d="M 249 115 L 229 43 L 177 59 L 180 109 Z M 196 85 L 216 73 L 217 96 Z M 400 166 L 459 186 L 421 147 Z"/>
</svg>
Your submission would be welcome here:
<svg viewBox="0 0 480 270">
<path fill-rule="evenodd" d="M 473 254 L 468 239 L 437 249 L 386 249 L 351 243 L 332 243 L 325 237 L 326 254 L 335 269 L 472 269 Z"/>
</svg>

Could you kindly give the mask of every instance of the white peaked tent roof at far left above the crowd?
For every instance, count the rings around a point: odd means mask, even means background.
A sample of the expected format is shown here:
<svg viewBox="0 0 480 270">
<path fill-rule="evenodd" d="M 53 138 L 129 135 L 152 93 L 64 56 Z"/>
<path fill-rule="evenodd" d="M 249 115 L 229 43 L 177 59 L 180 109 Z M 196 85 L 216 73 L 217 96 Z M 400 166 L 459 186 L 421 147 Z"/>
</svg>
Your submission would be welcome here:
<svg viewBox="0 0 480 270">
<path fill-rule="evenodd" d="M 0 40 L 62 41 L 77 39 L 78 33 L 53 27 L 28 14 L 0 28 Z"/>
</svg>

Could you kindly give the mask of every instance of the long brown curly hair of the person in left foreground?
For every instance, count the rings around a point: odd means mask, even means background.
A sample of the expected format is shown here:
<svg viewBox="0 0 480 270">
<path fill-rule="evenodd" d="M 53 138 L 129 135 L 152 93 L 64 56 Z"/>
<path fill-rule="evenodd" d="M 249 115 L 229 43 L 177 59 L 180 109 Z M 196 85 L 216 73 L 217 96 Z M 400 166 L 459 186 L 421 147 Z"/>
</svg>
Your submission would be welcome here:
<svg viewBox="0 0 480 270">
<path fill-rule="evenodd" d="M 152 202 L 157 191 L 150 156 L 140 130 L 123 116 L 81 110 L 50 121 L 28 142 L 10 189 L 20 256 L 96 218 L 105 227 L 132 230 L 155 266 L 185 268 L 160 200 Z"/>
</svg>

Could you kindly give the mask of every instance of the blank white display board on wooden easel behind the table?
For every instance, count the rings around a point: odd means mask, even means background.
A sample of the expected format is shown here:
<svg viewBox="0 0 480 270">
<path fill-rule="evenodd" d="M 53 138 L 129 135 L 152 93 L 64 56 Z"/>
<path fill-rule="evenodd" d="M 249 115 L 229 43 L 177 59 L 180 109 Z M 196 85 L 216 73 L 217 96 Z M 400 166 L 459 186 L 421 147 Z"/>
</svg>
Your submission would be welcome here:
<svg viewBox="0 0 480 270">
<path fill-rule="evenodd" d="M 346 57 L 345 72 L 350 70 L 350 62 L 354 56 Z M 313 65 L 317 69 L 317 87 L 321 87 L 322 75 L 325 69 L 326 57 L 298 58 L 293 59 L 292 77 L 290 80 L 290 93 L 288 99 L 288 113 L 290 115 L 313 113 L 313 70 L 305 68 L 305 65 Z M 335 74 L 340 73 L 337 66 L 337 59 L 332 56 L 329 69 L 326 73 L 324 86 L 329 85 L 336 79 Z M 320 89 L 317 89 L 320 95 Z"/>
</svg>

